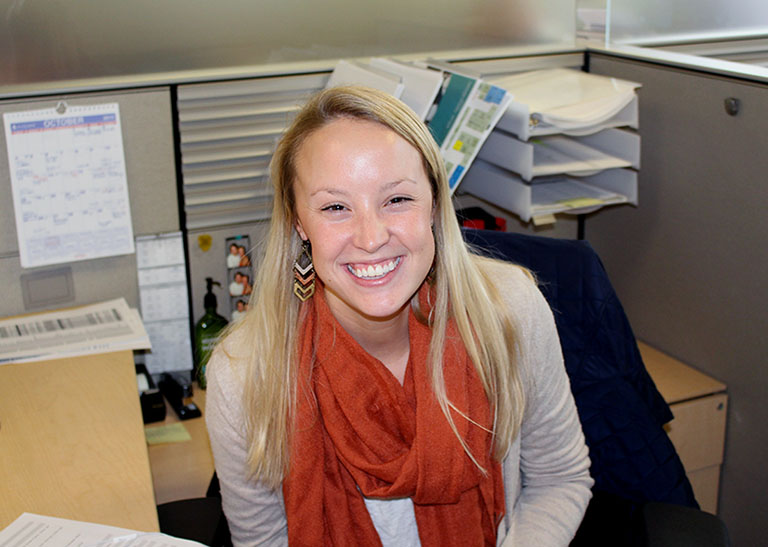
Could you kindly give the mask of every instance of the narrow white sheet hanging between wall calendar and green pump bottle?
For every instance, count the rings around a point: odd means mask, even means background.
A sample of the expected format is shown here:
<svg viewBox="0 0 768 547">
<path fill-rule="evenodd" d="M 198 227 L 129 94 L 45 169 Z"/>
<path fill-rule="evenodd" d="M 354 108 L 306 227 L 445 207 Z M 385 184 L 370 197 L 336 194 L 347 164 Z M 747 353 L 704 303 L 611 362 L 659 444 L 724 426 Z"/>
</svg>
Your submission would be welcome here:
<svg viewBox="0 0 768 547">
<path fill-rule="evenodd" d="M 136 238 L 139 300 L 152 340 L 151 374 L 192 369 L 187 270 L 181 232 Z"/>
</svg>

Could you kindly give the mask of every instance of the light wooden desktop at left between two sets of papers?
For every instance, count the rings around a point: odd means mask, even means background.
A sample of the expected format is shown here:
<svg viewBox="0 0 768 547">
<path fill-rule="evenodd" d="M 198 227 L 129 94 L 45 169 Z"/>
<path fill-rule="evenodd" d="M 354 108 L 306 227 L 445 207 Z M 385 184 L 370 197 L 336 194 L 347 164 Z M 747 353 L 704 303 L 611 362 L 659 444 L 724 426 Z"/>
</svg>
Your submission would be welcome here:
<svg viewBox="0 0 768 547">
<path fill-rule="evenodd" d="M 131 351 L 0 365 L 0 529 L 22 512 L 157 531 Z"/>
</svg>

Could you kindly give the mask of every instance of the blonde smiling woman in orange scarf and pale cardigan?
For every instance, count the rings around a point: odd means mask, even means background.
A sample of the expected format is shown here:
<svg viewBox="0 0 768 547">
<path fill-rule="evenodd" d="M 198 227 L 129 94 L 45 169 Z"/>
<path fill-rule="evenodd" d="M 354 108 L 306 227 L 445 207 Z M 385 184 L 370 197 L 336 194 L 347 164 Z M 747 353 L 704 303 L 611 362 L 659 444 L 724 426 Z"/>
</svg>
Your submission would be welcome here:
<svg viewBox="0 0 768 547">
<path fill-rule="evenodd" d="M 567 545 L 592 481 L 552 314 L 469 252 L 426 127 L 329 89 L 271 168 L 251 306 L 208 366 L 234 543 Z"/>
</svg>

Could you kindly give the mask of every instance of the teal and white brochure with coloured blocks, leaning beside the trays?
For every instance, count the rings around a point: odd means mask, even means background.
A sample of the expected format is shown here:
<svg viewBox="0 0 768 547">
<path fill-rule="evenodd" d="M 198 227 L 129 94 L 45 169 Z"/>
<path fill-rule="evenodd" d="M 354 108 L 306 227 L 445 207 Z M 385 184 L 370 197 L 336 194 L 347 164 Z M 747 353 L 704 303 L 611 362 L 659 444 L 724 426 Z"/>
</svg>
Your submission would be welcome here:
<svg viewBox="0 0 768 547">
<path fill-rule="evenodd" d="M 451 193 L 509 105 L 511 95 L 478 78 L 446 72 L 427 126 L 440 146 Z"/>
</svg>

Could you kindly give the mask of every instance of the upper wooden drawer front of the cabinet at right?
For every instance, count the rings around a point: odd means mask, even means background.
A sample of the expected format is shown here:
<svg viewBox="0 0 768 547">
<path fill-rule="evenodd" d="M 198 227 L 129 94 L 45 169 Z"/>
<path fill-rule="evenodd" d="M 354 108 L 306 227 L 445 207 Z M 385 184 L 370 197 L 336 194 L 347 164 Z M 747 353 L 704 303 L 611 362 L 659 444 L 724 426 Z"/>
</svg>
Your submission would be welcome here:
<svg viewBox="0 0 768 547">
<path fill-rule="evenodd" d="M 676 403 L 665 429 L 687 472 L 723 461 L 728 396 L 724 393 Z"/>
</svg>

